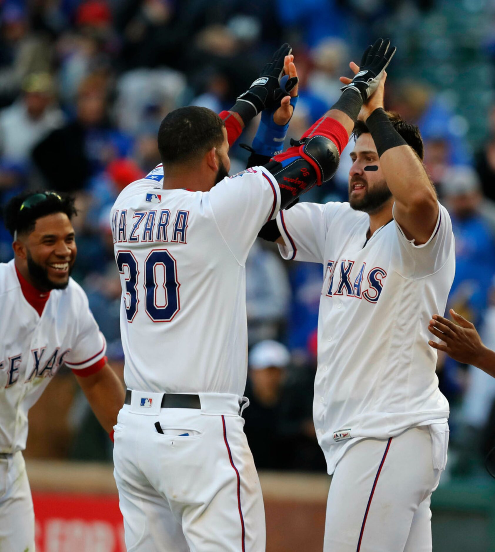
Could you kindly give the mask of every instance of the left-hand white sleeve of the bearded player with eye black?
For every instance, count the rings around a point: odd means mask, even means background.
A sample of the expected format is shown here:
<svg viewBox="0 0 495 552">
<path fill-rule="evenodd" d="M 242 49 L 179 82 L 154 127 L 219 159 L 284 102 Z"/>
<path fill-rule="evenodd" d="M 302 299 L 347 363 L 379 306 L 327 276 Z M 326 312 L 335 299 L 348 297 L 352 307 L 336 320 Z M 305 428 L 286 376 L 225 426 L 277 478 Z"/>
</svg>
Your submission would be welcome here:
<svg viewBox="0 0 495 552">
<path fill-rule="evenodd" d="M 289 261 L 323 263 L 327 237 L 327 206 L 299 203 L 276 217 L 285 246 L 279 245 L 281 256 Z"/>
</svg>

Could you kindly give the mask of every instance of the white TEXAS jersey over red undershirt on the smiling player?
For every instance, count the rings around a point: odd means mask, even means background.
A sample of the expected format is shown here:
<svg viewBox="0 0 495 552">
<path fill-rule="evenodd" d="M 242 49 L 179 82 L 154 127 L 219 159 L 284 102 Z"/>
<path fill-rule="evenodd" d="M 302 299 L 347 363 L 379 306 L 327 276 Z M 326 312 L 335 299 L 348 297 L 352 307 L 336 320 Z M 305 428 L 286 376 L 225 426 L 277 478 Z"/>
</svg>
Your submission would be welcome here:
<svg viewBox="0 0 495 552">
<path fill-rule="evenodd" d="M 25 299 L 14 261 L 0 264 L 0 453 L 26 447 L 28 410 L 62 364 L 82 370 L 105 356 L 105 339 L 72 278 L 41 316 Z"/>
</svg>

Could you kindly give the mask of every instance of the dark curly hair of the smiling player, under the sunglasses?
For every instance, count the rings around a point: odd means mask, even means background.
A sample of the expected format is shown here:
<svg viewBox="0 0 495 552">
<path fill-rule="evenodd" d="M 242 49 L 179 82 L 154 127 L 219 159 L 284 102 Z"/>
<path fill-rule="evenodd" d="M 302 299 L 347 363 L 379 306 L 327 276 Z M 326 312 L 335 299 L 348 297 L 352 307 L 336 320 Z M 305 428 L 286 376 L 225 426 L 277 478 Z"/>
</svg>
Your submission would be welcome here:
<svg viewBox="0 0 495 552">
<path fill-rule="evenodd" d="M 29 205 L 29 199 L 35 195 L 40 195 L 39 201 Z M 41 198 L 45 196 L 45 199 Z M 23 203 L 27 203 L 21 209 Z M 77 215 L 74 206 L 73 197 L 62 197 L 56 192 L 47 192 L 45 190 L 38 192 L 24 192 L 15 195 L 4 208 L 4 221 L 7 230 L 12 236 L 17 233 L 32 232 L 36 226 L 36 220 L 42 216 L 53 215 L 55 213 L 65 213 L 69 220 Z"/>
</svg>

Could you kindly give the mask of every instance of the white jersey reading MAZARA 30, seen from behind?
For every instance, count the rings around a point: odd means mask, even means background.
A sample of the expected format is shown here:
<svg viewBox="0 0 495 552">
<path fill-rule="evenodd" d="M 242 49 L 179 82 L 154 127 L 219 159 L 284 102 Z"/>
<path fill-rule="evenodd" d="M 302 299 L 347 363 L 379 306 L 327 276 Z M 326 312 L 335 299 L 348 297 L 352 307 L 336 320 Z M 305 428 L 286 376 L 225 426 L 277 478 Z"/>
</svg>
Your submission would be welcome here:
<svg viewBox="0 0 495 552">
<path fill-rule="evenodd" d="M 129 184 L 110 214 L 123 288 L 128 388 L 242 395 L 247 375 L 245 263 L 278 213 L 263 167 L 209 192 L 162 189 L 163 168 Z"/>
</svg>

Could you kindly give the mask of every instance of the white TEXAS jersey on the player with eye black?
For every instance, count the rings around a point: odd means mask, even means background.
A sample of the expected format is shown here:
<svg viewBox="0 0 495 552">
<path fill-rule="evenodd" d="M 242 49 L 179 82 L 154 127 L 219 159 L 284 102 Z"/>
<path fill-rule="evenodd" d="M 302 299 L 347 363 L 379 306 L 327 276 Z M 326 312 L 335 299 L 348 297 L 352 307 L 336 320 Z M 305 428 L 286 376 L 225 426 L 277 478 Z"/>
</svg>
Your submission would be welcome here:
<svg viewBox="0 0 495 552">
<path fill-rule="evenodd" d="M 300 203 L 278 215 L 285 259 L 323 264 L 313 417 L 328 473 L 354 438 L 388 438 L 446 421 L 428 321 L 454 279 L 454 236 L 440 205 L 427 243 L 395 221 L 366 240 L 369 216 L 348 203 Z"/>
</svg>

